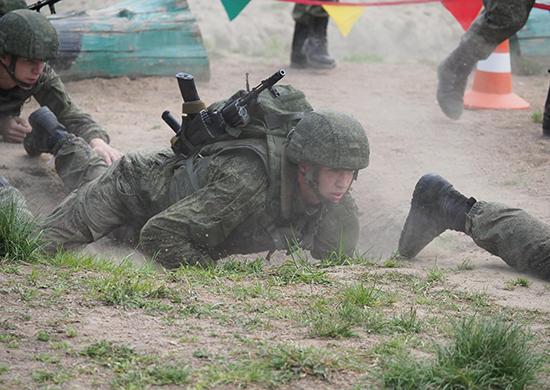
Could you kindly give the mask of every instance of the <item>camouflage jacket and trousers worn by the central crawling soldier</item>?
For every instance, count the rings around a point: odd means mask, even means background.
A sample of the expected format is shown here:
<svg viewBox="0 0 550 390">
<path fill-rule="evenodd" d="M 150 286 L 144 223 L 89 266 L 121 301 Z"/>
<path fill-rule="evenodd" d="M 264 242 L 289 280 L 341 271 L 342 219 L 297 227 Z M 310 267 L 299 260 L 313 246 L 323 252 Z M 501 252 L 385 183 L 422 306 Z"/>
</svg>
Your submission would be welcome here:
<svg viewBox="0 0 550 390">
<path fill-rule="evenodd" d="M 85 146 L 69 142 L 60 155 L 79 156 L 82 162 Z M 43 226 L 45 238 L 53 243 L 49 249 L 77 248 L 130 225 L 141 229 L 140 248 L 166 268 L 204 266 L 232 254 L 275 250 L 272 236 L 262 227 L 268 189 L 262 159 L 255 152 L 235 150 L 207 161 L 195 162 L 200 189 L 174 199 L 170 188 L 175 174 L 187 174 L 181 156 L 169 148 L 127 153 L 49 215 Z M 70 164 L 70 158 L 65 163 Z M 294 171 L 294 186 L 288 189 L 294 194 L 291 217 L 275 221 L 280 233 L 291 243 L 301 242 L 316 258 L 338 251 L 341 243 L 351 253 L 359 238 L 351 196 L 330 210 L 322 204 L 306 205 L 296 177 Z M 186 182 L 178 180 L 180 185 Z"/>
</svg>

